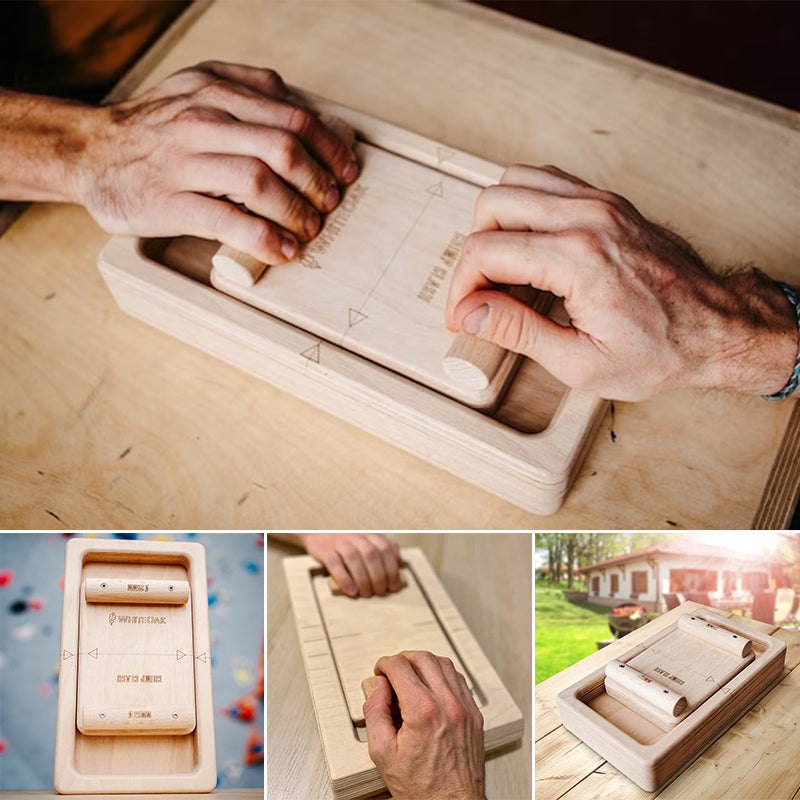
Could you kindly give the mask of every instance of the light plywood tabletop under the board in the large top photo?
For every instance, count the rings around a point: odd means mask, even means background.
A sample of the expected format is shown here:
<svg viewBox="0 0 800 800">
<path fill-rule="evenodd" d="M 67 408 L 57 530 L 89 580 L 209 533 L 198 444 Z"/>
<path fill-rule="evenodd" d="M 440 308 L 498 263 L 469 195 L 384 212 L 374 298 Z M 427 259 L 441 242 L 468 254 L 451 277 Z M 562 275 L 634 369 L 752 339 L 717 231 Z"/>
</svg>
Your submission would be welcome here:
<svg viewBox="0 0 800 800">
<path fill-rule="evenodd" d="M 272 66 L 496 163 L 613 188 L 714 263 L 800 278 L 800 114 L 468 3 L 200 10 L 125 87 L 209 58 Z M 47 204 L 0 238 L 0 527 L 785 527 L 800 414 L 770 468 L 792 401 L 616 403 L 562 509 L 537 517 L 127 317 L 95 266 L 106 238 Z"/>
</svg>

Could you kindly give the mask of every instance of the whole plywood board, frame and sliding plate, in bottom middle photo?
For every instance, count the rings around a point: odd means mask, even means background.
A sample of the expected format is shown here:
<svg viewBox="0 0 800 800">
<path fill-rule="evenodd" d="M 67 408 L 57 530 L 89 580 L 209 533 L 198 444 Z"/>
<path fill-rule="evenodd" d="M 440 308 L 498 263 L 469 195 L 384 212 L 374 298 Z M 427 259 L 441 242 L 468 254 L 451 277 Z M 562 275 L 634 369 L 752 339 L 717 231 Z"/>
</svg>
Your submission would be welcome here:
<svg viewBox="0 0 800 800">
<path fill-rule="evenodd" d="M 343 800 L 386 788 L 369 757 L 361 713 L 361 682 L 374 673 L 381 655 L 413 648 L 452 658 L 483 714 L 487 753 L 518 741 L 523 733 L 519 709 L 424 553 L 406 548 L 401 555 L 407 585 L 383 598 L 333 595 L 316 559 L 284 559 L 331 787 Z"/>
</svg>

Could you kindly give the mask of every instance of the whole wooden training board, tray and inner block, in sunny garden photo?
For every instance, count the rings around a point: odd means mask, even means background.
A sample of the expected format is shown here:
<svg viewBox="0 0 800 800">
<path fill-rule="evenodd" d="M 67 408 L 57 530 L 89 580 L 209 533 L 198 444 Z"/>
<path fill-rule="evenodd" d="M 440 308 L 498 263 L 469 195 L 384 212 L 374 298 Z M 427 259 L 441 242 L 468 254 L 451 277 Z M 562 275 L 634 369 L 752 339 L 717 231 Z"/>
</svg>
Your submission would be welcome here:
<svg viewBox="0 0 800 800">
<path fill-rule="evenodd" d="M 786 645 L 698 609 L 557 699 L 567 730 L 656 791 L 780 677 Z"/>
</svg>

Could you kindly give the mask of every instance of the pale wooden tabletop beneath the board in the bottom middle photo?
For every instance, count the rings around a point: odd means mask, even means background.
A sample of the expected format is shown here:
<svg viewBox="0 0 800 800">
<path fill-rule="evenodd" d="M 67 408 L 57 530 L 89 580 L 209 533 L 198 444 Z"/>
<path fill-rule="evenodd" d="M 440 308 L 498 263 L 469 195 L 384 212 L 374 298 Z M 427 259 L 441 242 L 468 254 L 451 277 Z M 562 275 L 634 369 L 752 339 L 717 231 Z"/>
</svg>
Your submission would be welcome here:
<svg viewBox="0 0 800 800">
<path fill-rule="evenodd" d="M 531 797 L 531 537 L 397 534 L 421 547 L 522 711 L 522 742 L 486 763 L 487 796 Z M 282 559 L 301 551 L 267 539 L 267 796 L 331 800 Z M 388 798 L 384 793 L 380 798 Z"/>
</svg>

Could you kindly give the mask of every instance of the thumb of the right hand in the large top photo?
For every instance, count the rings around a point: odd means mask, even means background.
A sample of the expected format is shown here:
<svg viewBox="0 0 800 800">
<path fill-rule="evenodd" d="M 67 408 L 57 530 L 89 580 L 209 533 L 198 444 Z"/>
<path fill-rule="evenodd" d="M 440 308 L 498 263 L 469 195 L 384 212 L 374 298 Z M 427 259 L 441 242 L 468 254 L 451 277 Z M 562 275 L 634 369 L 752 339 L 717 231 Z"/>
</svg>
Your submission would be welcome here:
<svg viewBox="0 0 800 800">
<path fill-rule="evenodd" d="M 577 344 L 574 328 L 553 322 L 504 292 L 472 292 L 456 306 L 453 318 L 454 327 L 526 355 L 556 376 L 559 363 Z"/>
</svg>

